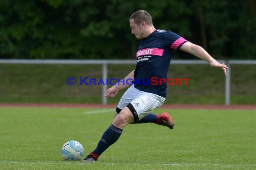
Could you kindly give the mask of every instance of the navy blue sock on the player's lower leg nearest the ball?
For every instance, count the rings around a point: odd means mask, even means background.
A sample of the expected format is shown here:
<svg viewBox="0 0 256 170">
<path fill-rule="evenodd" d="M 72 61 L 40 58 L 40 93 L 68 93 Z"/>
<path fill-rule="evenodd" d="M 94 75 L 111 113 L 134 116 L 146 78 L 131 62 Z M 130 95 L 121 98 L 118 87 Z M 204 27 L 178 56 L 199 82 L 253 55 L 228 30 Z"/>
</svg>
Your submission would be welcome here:
<svg viewBox="0 0 256 170">
<path fill-rule="evenodd" d="M 93 153 L 98 156 L 101 155 L 111 144 L 114 144 L 119 136 L 122 134 L 123 129 L 115 127 L 113 124 L 103 133 L 102 139 L 99 141 L 97 148 Z M 97 158 L 97 157 L 96 157 Z"/>
</svg>

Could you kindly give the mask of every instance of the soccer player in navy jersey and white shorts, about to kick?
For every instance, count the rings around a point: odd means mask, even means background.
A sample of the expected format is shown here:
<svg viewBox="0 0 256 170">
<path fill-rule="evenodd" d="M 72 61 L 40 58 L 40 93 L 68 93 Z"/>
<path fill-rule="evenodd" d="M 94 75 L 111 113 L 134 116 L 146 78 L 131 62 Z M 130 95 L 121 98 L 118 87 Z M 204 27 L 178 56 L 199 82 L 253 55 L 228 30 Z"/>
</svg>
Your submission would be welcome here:
<svg viewBox="0 0 256 170">
<path fill-rule="evenodd" d="M 202 47 L 190 43 L 172 31 L 156 30 L 150 14 L 145 10 L 133 13 L 129 20 L 132 34 L 141 42 L 137 51 L 136 68 L 124 78 L 125 80 L 133 79 L 133 81 L 140 80 L 142 82 L 151 77 L 167 79 L 172 53 L 178 49 L 209 62 L 213 67 L 221 68 L 226 75 L 228 67 L 213 59 Z M 116 84 L 106 90 L 105 96 L 107 98 L 115 97 L 120 89 L 128 86 L 122 83 Z M 128 88 L 117 105 L 112 124 L 103 133 L 96 149 L 89 153 L 83 161 L 97 161 L 98 157 L 118 140 L 124 127 L 130 123 L 152 122 L 172 129 L 174 123 L 168 113 L 161 115 L 150 113 L 163 104 L 166 93 L 166 82 L 161 85 L 135 83 Z"/>
</svg>

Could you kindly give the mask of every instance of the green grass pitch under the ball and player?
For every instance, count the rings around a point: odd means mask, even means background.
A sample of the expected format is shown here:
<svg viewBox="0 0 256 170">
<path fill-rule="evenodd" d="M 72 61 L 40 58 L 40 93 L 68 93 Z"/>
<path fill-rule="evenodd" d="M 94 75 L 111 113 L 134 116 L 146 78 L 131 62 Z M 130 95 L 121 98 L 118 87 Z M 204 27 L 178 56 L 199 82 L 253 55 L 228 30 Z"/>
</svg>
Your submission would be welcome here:
<svg viewBox="0 0 256 170">
<path fill-rule="evenodd" d="M 0 169 L 256 169 L 256 110 L 168 110 L 173 130 L 130 124 L 97 162 L 62 160 L 61 148 L 68 140 L 83 144 L 85 155 L 91 152 L 114 111 L 0 108 Z"/>
</svg>

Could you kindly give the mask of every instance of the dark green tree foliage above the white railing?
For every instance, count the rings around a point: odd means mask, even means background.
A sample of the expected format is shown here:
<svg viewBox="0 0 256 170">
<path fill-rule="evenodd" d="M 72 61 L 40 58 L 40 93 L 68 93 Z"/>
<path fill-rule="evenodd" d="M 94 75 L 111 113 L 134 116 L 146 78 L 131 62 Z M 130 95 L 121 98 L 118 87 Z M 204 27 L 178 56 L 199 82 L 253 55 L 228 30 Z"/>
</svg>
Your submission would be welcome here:
<svg viewBox="0 0 256 170">
<path fill-rule="evenodd" d="M 255 58 L 253 0 L 1 0 L 0 58 L 132 59 L 129 16 L 147 10 L 217 59 Z M 176 52 L 177 58 L 191 58 Z"/>
</svg>

